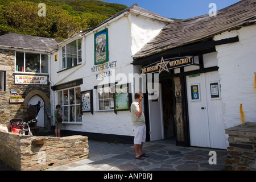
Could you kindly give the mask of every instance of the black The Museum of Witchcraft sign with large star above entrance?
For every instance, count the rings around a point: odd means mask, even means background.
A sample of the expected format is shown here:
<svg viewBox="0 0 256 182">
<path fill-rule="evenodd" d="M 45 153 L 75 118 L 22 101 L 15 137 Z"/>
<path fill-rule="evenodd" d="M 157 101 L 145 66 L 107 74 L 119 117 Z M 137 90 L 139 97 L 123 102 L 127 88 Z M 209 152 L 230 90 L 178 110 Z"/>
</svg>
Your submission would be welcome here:
<svg viewBox="0 0 256 182">
<path fill-rule="evenodd" d="M 187 65 L 192 65 L 193 56 L 185 56 L 185 57 L 175 57 L 171 59 L 164 60 L 163 57 L 160 61 L 156 63 L 152 63 L 147 65 L 144 68 L 141 68 L 141 73 L 161 73 L 162 71 L 169 72 L 170 69 L 185 67 Z"/>
</svg>

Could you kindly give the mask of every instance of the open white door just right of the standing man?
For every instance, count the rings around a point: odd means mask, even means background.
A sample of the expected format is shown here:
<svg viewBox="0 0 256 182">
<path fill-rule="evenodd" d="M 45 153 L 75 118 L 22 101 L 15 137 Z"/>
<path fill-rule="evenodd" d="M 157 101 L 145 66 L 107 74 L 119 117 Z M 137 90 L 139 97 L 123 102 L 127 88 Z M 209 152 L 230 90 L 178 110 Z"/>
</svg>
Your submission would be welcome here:
<svg viewBox="0 0 256 182">
<path fill-rule="evenodd" d="M 159 84 L 158 99 L 148 100 L 148 110 L 150 119 L 150 140 L 155 141 L 164 139 L 161 84 Z"/>
</svg>

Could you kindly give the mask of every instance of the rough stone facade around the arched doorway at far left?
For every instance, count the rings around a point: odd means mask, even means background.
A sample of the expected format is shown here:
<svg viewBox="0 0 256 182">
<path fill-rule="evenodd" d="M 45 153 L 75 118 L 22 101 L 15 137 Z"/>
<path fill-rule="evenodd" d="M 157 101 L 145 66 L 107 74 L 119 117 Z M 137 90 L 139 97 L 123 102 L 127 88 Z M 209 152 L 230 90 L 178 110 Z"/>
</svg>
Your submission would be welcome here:
<svg viewBox="0 0 256 182">
<path fill-rule="evenodd" d="M 1 91 L 0 97 L 0 123 L 9 123 L 13 118 L 24 118 L 26 115 L 27 106 L 23 103 L 10 103 L 10 92 L 11 90 L 17 90 L 17 92 L 23 97 L 31 93 L 33 90 L 39 90 L 46 94 L 48 100 L 50 96 L 49 84 L 47 85 L 22 85 L 14 83 L 14 69 L 15 65 L 15 51 L 9 49 L 0 49 L 0 71 L 5 72 L 6 75 L 6 89 Z M 27 73 L 26 73 L 27 74 Z M 19 73 L 19 75 L 26 75 L 25 73 Z M 36 74 L 40 75 L 40 74 Z M 40 96 L 40 95 L 39 95 Z M 41 97 L 41 96 L 40 96 Z M 46 102 L 44 100 L 44 102 Z M 46 106 L 46 111 L 50 115 L 50 106 Z"/>
</svg>

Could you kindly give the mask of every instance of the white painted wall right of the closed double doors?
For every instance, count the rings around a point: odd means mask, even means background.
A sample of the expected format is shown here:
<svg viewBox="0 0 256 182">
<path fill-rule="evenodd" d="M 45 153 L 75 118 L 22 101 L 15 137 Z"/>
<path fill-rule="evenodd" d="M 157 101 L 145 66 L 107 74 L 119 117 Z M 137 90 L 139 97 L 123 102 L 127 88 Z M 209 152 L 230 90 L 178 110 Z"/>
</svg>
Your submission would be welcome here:
<svg viewBox="0 0 256 182">
<path fill-rule="evenodd" d="M 225 129 L 242 123 L 240 104 L 243 106 L 245 122 L 256 122 L 256 25 L 224 32 L 214 40 L 237 35 L 240 42 L 216 46 Z"/>
</svg>

